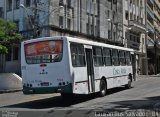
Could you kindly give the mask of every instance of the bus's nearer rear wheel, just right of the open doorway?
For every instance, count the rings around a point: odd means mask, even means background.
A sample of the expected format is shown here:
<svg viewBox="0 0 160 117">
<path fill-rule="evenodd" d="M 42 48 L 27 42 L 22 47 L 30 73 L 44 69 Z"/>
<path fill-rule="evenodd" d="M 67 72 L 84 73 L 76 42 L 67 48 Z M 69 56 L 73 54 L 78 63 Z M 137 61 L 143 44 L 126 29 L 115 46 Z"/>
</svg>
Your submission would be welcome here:
<svg viewBox="0 0 160 117">
<path fill-rule="evenodd" d="M 104 79 L 101 79 L 99 96 L 104 97 L 106 93 L 107 93 L 107 83 Z"/>
</svg>

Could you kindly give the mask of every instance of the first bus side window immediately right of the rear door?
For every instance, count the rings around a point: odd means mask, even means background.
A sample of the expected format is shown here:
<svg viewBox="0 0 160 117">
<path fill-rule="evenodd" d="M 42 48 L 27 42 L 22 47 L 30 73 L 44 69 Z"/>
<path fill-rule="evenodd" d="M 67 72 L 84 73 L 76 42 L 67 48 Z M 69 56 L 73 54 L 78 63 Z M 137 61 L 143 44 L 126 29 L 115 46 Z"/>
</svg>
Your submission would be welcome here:
<svg viewBox="0 0 160 117">
<path fill-rule="evenodd" d="M 93 59 L 95 66 L 103 66 L 102 48 L 93 47 Z"/>
</svg>

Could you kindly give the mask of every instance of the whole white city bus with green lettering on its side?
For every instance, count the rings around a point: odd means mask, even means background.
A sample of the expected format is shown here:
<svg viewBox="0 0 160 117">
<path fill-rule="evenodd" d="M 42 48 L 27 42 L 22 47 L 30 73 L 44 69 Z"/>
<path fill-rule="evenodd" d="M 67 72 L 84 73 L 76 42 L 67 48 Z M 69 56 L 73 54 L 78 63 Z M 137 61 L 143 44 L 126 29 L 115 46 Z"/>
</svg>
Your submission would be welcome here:
<svg viewBox="0 0 160 117">
<path fill-rule="evenodd" d="M 131 87 L 132 49 L 72 37 L 43 37 L 22 42 L 24 94 L 106 95 Z"/>
</svg>

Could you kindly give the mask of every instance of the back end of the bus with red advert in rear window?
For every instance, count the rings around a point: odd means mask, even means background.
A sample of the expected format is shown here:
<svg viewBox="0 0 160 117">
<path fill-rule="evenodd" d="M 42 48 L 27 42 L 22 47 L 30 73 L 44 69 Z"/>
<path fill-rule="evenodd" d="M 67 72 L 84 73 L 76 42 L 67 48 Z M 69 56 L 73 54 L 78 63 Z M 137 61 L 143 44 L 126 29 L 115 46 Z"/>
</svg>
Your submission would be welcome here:
<svg viewBox="0 0 160 117">
<path fill-rule="evenodd" d="M 67 41 L 63 39 L 22 42 L 24 94 L 72 93 L 67 48 Z"/>
</svg>

